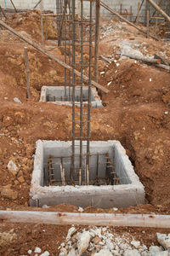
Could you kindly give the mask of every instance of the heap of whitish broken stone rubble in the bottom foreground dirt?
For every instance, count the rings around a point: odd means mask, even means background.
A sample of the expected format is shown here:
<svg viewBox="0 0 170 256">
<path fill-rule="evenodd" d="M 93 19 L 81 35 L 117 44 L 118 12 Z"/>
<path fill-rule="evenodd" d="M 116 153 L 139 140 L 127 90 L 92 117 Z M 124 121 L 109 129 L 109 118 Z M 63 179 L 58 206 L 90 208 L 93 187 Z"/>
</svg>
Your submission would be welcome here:
<svg viewBox="0 0 170 256">
<path fill-rule="evenodd" d="M 59 256 L 170 256 L 170 234 L 157 233 L 160 246 L 149 248 L 136 241 L 130 233 L 122 236 L 109 227 L 89 227 L 88 230 L 68 230 L 65 242 L 59 246 Z"/>
</svg>

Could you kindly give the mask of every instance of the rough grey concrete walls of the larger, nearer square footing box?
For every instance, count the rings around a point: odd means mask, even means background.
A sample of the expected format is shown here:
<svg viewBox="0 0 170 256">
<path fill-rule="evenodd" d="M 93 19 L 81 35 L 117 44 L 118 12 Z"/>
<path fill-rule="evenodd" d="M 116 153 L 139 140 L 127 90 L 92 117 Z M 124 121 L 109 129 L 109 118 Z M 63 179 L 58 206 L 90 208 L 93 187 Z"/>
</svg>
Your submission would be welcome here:
<svg viewBox="0 0 170 256">
<path fill-rule="evenodd" d="M 78 142 L 76 142 L 78 145 Z M 79 207 L 129 207 L 144 203 L 144 186 L 139 182 L 126 151 L 118 141 L 91 142 L 91 154 L 105 154 L 107 152 L 120 178 L 119 185 L 101 186 L 44 186 L 44 166 L 48 156 L 71 156 L 71 142 L 37 141 L 34 160 L 34 170 L 31 180 L 31 207 L 43 205 L 53 206 L 69 203 Z M 99 173 L 105 168 L 99 164 Z M 92 171 L 91 177 L 94 174 Z"/>
</svg>

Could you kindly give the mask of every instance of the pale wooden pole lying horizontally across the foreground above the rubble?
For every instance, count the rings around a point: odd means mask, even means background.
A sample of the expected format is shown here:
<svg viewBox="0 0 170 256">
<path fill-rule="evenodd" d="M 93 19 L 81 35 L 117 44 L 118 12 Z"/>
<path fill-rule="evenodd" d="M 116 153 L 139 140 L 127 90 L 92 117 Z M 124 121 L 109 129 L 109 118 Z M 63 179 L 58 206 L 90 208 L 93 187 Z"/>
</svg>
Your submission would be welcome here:
<svg viewBox="0 0 170 256">
<path fill-rule="evenodd" d="M 170 228 L 170 215 L 0 211 L 2 223 Z"/>
</svg>

